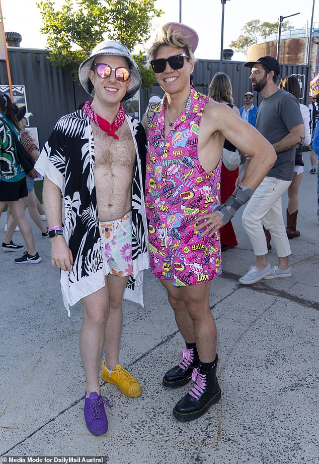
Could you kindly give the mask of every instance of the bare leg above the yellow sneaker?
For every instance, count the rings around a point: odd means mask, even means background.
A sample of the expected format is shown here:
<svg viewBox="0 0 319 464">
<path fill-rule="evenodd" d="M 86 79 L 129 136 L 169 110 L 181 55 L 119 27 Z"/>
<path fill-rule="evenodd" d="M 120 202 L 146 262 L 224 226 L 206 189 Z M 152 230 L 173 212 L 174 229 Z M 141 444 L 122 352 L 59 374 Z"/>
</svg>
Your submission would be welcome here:
<svg viewBox="0 0 319 464">
<path fill-rule="evenodd" d="M 105 327 L 105 367 L 109 370 L 119 364 L 119 347 L 122 332 L 122 301 L 128 277 L 118 277 L 109 274 L 107 283 L 109 288 L 110 313 Z"/>
</svg>

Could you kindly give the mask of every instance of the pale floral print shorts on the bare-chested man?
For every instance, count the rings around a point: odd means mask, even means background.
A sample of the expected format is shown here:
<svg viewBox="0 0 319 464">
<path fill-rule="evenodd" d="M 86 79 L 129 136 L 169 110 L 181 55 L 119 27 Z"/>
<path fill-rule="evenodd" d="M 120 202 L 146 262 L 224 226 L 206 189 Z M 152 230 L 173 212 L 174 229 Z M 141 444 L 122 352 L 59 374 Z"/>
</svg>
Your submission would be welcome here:
<svg viewBox="0 0 319 464">
<path fill-rule="evenodd" d="M 120 219 L 100 222 L 104 250 L 109 271 L 107 273 L 127 277 L 133 273 L 132 265 L 132 212 Z"/>
</svg>

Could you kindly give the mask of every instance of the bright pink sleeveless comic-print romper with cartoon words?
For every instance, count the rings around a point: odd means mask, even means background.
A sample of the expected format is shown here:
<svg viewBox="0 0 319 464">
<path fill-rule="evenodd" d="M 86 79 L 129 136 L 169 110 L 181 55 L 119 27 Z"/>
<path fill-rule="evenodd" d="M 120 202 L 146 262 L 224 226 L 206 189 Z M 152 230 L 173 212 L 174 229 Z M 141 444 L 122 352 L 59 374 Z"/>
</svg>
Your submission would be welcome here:
<svg viewBox="0 0 319 464">
<path fill-rule="evenodd" d="M 147 135 L 145 183 L 150 265 L 173 285 L 196 285 L 221 273 L 219 233 L 202 237 L 194 219 L 220 203 L 220 167 L 206 172 L 197 155 L 198 133 L 209 97 L 191 88 L 185 109 L 165 140 L 165 98 Z"/>
</svg>

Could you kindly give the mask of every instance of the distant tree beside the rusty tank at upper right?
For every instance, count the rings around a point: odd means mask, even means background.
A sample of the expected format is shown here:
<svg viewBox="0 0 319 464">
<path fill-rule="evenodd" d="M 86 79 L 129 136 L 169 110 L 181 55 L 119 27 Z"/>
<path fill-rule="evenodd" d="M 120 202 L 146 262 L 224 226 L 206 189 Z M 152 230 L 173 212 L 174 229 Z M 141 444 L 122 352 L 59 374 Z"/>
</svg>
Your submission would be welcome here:
<svg viewBox="0 0 319 464">
<path fill-rule="evenodd" d="M 292 26 L 289 21 L 282 23 L 282 30 L 287 31 Z M 269 37 L 278 31 L 278 22 L 269 23 L 267 21 L 261 23 L 259 19 L 253 19 L 248 21 L 244 27 L 242 27 L 240 36 L 236 40 L 230 42 L 230 47 L 235 48 L 237 51 L 243 51 L 246 53 L 247 48 L 255 43 L 260 37 Z"/>
</svg>

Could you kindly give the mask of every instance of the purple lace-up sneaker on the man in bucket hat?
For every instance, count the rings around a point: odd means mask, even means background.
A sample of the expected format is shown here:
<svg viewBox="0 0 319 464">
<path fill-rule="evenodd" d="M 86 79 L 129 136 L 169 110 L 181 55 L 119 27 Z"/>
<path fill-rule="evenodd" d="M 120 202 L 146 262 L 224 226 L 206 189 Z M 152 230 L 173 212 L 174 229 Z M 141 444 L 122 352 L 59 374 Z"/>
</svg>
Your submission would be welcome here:
<svg viewBox="0 0 319 464">
<path fill-rule="evenodd" d="M 104 435 L 108 430 L 109 425 L 104 404 L 111 408 L 106 396 L 98 395 L 96 391 L 92 391 L 87 398 L 87 392 L 85 392 L 84 418 L 92 435 Z"/>
</svg>

